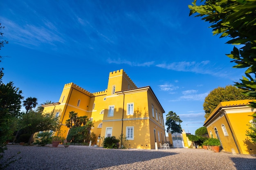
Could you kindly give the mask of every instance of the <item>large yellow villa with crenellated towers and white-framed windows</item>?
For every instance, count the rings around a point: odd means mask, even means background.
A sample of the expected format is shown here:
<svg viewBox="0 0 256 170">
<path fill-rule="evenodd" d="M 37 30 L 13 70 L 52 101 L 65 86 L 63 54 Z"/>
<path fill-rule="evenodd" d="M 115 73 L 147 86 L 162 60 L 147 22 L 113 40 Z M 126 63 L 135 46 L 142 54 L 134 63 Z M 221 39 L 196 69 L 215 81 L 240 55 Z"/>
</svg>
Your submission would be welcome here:
<svg viewBox="0 0 256 170">
<path fill-rule="evenodd" d="M 109 73 L 105 91 L 90 93 L 68 83 L 64 85 L 59 102 L 43 107 L 44 113 L 60 117 L 65 138 L 69 131 L 65 121 L 70 111 L 74 111 L 92 120 L 91 132 L 97 136 L 126 135 L 128 148 L 155 149 L 155 142 L 158 147 L 159 143 L 166 142 L 164 109 L 154 92 L 150 86 L 138 88 L 122 69 Z M 96 141 L 99 146 L 100 140 Z"/>
</svg>

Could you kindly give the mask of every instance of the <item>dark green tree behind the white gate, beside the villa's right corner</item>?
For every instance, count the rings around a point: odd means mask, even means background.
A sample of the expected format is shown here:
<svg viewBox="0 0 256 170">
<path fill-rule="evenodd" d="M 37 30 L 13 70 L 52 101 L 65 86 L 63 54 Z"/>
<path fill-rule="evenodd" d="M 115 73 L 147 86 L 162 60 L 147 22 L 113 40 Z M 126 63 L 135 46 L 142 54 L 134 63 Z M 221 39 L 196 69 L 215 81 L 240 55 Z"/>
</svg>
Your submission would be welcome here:
<svg viewBox="0 0 256 170">
<path fill-rule="evenodd" d="M 171 129 L 171 133 L 181 133 L 181 123 L 182 120 L 180 119 L 180 116 L 176 115 L 175 112 L 169 111 L 169 113 L 166 115 L 165 125 L 167 126 L 167 132 Z"/>
</svg>

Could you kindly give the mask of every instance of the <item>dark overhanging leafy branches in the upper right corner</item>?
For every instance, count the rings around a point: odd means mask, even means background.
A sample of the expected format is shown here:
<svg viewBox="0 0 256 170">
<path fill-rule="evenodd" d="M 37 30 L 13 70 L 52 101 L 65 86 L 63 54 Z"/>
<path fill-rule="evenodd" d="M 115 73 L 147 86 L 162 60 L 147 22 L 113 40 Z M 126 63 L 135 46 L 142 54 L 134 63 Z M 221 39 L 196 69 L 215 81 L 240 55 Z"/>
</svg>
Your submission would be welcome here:
<svg viewBox="0 0 256 170">
<path fill-rule="evenodd" d="M 197 13 L 202 20 L 211 24 L 213 35 L 228 37 L 227 44 L 234 46 L 227 54 L 236 63 L 234 68 L 247 68 L 246 77 L 236 82 L 238 88 L 246 90 L 245 95 L 256 97 L 256 0 L 201 0 L 201 5 L 189 5 L 190 14 Z M 256 108 L 256 103 L 251 102 Z"/>
</svg>

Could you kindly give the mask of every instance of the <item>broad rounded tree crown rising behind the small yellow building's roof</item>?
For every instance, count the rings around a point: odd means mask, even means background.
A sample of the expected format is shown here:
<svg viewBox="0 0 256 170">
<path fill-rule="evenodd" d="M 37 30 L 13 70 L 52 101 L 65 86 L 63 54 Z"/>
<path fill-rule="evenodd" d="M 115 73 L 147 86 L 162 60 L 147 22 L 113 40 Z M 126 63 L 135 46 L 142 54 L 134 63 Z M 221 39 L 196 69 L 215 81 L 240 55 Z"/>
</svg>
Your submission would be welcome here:
<svg viewBox="0 0 256 170">
<path fill-rule="evenodd" d="M 255 97 L 246 96 L 243 94 L 243 89 L 236 86 L 218 87 L 213 89 L 204 99 L 205 119 L 213 112 L 213 110 L 220 104 L 220 102 L 227 102 L 233 100 L 255 99 Z"/>
</svg>

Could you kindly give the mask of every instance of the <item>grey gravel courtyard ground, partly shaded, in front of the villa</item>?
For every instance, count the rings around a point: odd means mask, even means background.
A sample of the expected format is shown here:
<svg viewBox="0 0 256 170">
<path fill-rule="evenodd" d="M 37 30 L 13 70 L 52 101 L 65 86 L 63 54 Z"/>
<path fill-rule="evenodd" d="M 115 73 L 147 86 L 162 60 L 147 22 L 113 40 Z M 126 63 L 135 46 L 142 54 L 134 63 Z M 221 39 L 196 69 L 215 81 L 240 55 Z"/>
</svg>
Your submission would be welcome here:
<svg viewBox="0 0 256 170">
<path fill-rule="evenodd" d="M 232 155 L 204 149 L 103 149 L 8 145 L 4 159 L 20 160 L 7 170 L 255 170 L 256 155 Z M 4 159 L 2 161 L 4 161 Z M 3 163 L 3 162 L 1 162 Z"/>
</svg>

